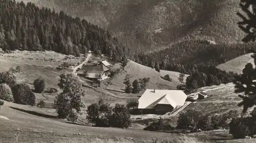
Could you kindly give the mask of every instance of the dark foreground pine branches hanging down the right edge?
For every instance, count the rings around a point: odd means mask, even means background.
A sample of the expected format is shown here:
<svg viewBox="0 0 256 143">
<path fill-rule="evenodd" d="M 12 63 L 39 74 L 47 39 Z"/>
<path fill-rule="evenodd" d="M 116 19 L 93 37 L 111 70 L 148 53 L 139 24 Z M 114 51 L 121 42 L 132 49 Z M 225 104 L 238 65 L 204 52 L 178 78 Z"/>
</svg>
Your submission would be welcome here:
<svg viewBox="0 0 256 143">
<path fill-rule="evenodd" d="M 245 3 L 245 4 L 243 4 L 243 3 Z M 245 33 L 247 33 L 247 36 L 245 38 L 243 38 L 242 41 L 243 42 L 255 41 L 255 37 L 256 37 L 256 31 L 255 31 L 256 2 L 253 0 L 241 1 L 240 6 L 249 18 L 249 19 L 247 19 L 241 13 L 237 13 L 238 16 L 240 16 L 243 19 L 243 21 L 238 22 L 238 26 L 241 30 L 243 30 Z M 252 12 L 248 10 L 249 7 L 253 8 Z M 244 28 L 242 25 L 246 25 L 246 28 Z M 254 59 L 254 63 L 256 63 L 256 52 L 252 51 L 252 50 L 250 52 L 254 53 L 251 57 Z M 242 96 L 241 94 L 238 95 L 243 100 L 241 103 L 238 104 L 238 106 L 243 106 L 242 113 L 246 113 L 248 108 L 256 105 L 256 96 L 255 96 L 256 82 L 253 81 L 256 79 L 255 73 L 256 73 L 256 68 L 253 68 L 251 63 L 247 63 L 245 65 L 245 68 L 243 69 L 242 76 L 237 76 L 236 79 L 233 81 L 233 83 L 236 84 L 235 92 L 236 93 L 244 92 L 244 94 L 245 94 L 245 96 Z M 244 85 L 246 85 L 246 87 Z"/>
</svg>

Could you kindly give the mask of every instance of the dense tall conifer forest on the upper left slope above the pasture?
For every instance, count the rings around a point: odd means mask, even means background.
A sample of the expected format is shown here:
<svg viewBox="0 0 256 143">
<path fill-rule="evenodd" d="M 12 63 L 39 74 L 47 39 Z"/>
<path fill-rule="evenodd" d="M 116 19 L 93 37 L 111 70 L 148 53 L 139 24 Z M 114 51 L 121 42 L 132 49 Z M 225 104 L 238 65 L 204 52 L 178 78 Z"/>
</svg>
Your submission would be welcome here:
<svg viewBox="0 0 256 143">
<path fill-rule="evenodd" d="M 0 0 L 0 47 L 4 51 L 52 50 L 76 56 L 92 50 L 115 61 L 127 53 L 117 38 L 87 20 L 8 0 Z"/>
</svg>

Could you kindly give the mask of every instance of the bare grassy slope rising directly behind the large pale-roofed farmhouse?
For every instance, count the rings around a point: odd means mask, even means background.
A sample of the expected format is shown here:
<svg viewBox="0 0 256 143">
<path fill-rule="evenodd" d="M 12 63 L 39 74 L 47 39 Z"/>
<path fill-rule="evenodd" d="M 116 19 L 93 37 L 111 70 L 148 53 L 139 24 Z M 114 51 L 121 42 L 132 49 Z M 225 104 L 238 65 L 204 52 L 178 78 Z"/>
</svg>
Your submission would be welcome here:
<svg viewBox="0 0 256 143">
<path fill-rule="evenodd" d="M 119 67 L 120 65 L 116 64 L 113 66 L 113 69 Z M 111 81 L 112 84 L 106 86 L 106 88 L 124 92 L 125 85 L 123 84 L 123 81 L 125 79 L 126 74 L 130 74 L 131 82 L 133 82 L 136 79 L 138 80 L 140 78 L 151 78 L 150 82 L 148 83 L 148 86 L 146 87 L 150 89 L 176 89 L 177 85 L 180 84 L 178 80 L 180 73 L 178 72 L 161 70 L 160 73 L 158 73 L 158 71 L 156 71 L 154 68 L 138 64 L 134 61 L 129 61 L 127 65 L 124 67 L 124 71 L 122 71 L 116 77 L 114 77 Z M 170 76 L 170 78 L 172 78 L 172 82 L 166 81 L 161 78 L 167 74 Z M 185 75 L 184 80 L 186 80 L 187 76 L 188 75 Z"/>
</svg>

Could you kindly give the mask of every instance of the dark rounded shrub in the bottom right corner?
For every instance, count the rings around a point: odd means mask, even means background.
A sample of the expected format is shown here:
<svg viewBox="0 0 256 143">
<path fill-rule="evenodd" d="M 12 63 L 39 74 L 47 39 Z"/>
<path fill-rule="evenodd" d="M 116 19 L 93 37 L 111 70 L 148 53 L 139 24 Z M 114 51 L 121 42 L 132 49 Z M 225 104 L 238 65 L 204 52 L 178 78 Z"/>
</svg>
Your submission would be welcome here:
<svg viewBox="0 0 256 143">
<path fill-rule="evenodd" d="M 229 123 L 229 133 L 234 138 L 245 138 L 254 135 L 256 132 L 255 117 L 234 117 Z"/>
</svg>

